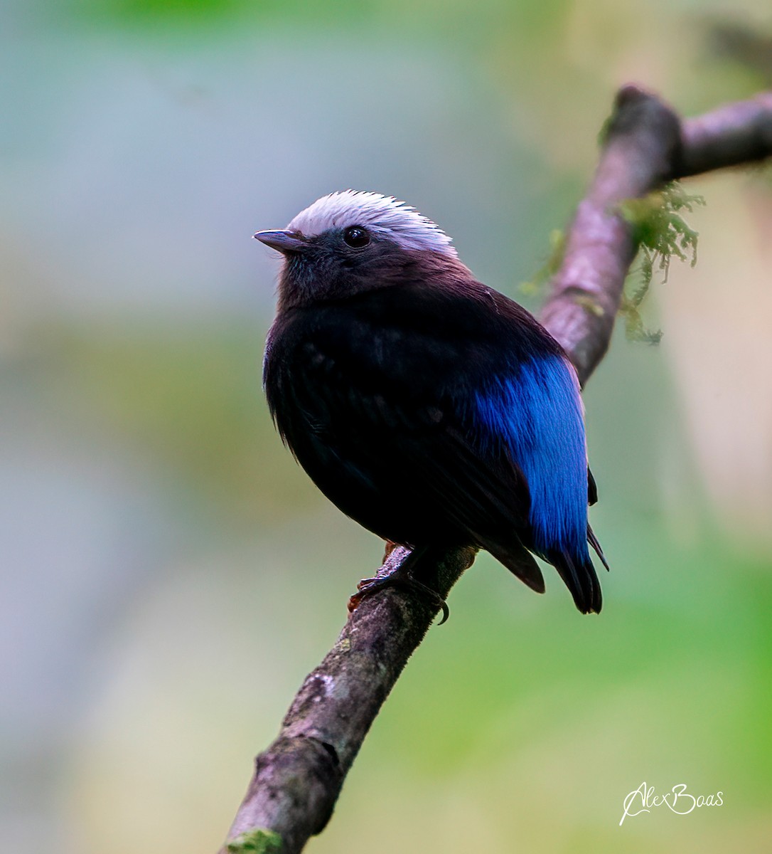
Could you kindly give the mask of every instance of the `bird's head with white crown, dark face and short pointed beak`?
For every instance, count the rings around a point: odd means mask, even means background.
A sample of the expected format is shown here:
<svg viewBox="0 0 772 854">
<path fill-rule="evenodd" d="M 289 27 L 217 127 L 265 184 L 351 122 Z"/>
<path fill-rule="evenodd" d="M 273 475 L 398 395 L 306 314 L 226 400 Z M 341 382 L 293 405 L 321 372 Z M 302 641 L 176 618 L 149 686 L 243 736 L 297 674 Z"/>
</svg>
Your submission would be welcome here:
<svg viewBox="0 0 772 854">
<path fill-rule="evenodd" d="M 284 255 L 280 309 L 468 272 L 438 225 L 379 193 L 342 190 L 322 196 L 286 229 L 258 231 L 254 237 Z"/>
</svg>

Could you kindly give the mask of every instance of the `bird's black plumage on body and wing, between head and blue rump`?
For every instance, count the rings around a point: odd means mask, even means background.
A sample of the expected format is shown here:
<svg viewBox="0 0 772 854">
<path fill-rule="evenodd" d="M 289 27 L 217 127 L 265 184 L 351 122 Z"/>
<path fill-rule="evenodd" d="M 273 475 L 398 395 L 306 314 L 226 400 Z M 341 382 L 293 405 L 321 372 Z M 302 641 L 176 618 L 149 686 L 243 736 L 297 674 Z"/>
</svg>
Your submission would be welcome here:
<svg viewBox="0 0 772 854">
<path fill-rule="evenodd" d="M 280 313 L 264 386 L 282 438 L 343 512 L 395 541 L 462 543 L 525 524 L 528 506 L 504 449 L 476 444 L 470 401 L 552 348 L 482 285 L 392 286 Z"/>
</svg>

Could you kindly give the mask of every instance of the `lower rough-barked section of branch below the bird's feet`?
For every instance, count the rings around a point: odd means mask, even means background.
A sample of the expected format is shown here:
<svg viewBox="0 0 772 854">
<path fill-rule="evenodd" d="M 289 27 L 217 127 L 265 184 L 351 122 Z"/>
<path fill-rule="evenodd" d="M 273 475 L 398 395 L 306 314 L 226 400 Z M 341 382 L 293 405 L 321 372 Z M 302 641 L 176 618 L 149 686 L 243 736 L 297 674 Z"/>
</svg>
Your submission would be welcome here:
<svg viewBox="0 0 772 854">
<path fill-rule="evenodd" d="M 378 575 L 408 553 L 394 548 Z M 449 552 L 421 579 L 444 599 L 473 559 L 472 549 Z M 278 738 L 257 757 L 225 851 L 293 854 L 322 832 L 370 724 L 438 610 L 404 588 L 363 600 L 322 664 L 306 676 Z M 276 837 L 256 830 L 277 834 L 283 847 L 270 847 Z"/>
</svg>

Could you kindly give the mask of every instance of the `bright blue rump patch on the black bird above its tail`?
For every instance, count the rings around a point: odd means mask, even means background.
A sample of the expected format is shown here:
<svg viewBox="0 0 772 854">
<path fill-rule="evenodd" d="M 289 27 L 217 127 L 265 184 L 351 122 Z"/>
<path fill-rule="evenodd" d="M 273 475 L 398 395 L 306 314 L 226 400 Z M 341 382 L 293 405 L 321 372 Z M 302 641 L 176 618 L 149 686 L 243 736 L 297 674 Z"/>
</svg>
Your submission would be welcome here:
<svg viewBox="0 0 772 854">
<path fill-rule="evenodd" d="M 558 355 L 536 356 L 497 376 L 475 395 L 483 444 L 504 442 L 531 493 L 533 546 L 587 549 L 587 448 L 576 374 Z"/>
</svg>

